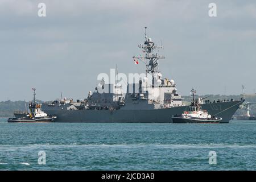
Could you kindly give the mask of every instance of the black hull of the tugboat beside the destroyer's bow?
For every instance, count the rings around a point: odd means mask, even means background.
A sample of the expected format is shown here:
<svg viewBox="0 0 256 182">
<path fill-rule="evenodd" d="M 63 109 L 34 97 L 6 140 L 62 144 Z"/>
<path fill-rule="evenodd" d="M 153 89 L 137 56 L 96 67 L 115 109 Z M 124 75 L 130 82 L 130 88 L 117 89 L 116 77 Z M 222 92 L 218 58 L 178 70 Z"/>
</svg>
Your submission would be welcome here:
<svg viewBox="0 0 256 182">
<path fill-rule="evenodd" d="M 195 118 L 172 117 L 172 123 L 220 123 L 221 120 L 222 120 L 222 118 L 195 119 Z"/>
</svg>

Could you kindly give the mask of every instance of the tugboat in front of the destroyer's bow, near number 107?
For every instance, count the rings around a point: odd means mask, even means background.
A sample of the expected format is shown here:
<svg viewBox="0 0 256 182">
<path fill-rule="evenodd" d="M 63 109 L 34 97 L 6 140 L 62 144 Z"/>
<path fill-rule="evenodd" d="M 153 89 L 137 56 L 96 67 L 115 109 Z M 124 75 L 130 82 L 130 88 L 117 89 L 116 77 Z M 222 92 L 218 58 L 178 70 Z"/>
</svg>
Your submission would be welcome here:
<svg viewBox="0 0 256 182">
<path fill-rule="evenodd" d="M 222 118 L 214 117 L 208 114 L 207 110 L 202 110 L 202 107 L 195 101 L 196 90 L 192 89 L 192 102 L 189 106 L 189 111 L 184 111 L 181 115 L 172 116 L 173 123 L 220 123 Z"/>
</svg>

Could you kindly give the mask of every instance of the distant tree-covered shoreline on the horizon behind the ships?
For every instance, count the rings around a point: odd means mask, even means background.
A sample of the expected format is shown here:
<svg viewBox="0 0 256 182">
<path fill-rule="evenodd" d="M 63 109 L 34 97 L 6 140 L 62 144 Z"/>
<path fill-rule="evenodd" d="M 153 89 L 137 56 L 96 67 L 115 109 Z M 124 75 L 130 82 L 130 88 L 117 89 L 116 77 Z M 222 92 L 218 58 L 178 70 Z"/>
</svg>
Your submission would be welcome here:
<svg viewBox="0 0 256 182">
<path fill-rule="evenodd" d="M 205 95 L 205 96 L 196 96 L 196 97 L 200 97 L 200 98 L 204 98 L 207 97 L 209 95 Z M 205 100 L 210 100 L 210 101 L 217 101 L 217 100 L 231 100 L 233 98 L 233 100 L 241 100 L 242 95 L 232 95 L 232 96 L 225 96 L 225 95 L 211 95 L 210 97 L 206 98 Z M 251 94 L 251 95 L 245 95 L 245 100 L 247 102 L 255 102 L 256 101 L 256 94 Z M 189 104 L 191 102 L 191 96 L 183 96 L 183 101 L 186 104 Z M 42 103 L 42 101 L 37 100 L 36 102 L 38 103 Z M 7 118 L 7 117 L 13 117 L 13 112 L 14 111 L 25 111 L 26 107 L 28 109 L 28 102 L 26 102 L 26 106 L 25 106 L 25 102 L 24 101 L 2 101 L 0 102 L 0 118 Z M 251 115 L 256 115 L 256 104 L 255 105 L 250 105 L 250 114 Z M 246 110 L 245 107 L 243 107 L 242 109 L 238 109 L 236 112 L 236 115 L 241 115 L 241 114 L 245 114 Z"/>
</svg>

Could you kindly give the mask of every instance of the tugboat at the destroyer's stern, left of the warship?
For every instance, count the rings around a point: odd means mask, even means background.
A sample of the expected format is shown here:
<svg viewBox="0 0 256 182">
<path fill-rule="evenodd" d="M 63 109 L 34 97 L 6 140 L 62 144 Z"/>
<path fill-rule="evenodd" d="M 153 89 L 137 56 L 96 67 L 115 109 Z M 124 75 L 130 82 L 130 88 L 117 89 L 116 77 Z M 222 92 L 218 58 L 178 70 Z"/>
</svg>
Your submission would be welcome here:
<svg viewBox="0 0 256 182">
<path fill-rule="evenodd" d="M 49 115 L 44 113 L 41 108 L 41 104 L 35 103 L 35 88 L 32 88 L 33 92 L 33 103 L 29 105 L 30 112 L 26 115 L 20 115 L 20 117 L 9 118 L 8 122 L 53 122 L 56 119 L 56 116 Z M 16 115 L 15 115 L 16 116 Z"/>
</svg>

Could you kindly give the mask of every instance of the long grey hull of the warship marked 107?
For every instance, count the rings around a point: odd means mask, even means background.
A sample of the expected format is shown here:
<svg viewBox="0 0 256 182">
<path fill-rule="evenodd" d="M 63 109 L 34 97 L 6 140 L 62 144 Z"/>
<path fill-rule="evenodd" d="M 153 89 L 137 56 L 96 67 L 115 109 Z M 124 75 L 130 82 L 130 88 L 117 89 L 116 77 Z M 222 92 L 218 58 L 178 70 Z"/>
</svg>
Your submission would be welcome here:
<svg viewBox="0 0 256 182">
<path fill-rule="evenodd" d="M 209 114 L 221 117 L 220 123 L 228 123 L 243 101 L 216 102 L 202 104 Z M 118 110 L 68 110 L 70 105 L 49 106 L 43 104 L 47 114 L 56 115 L 55 122 L 126 122 L 126 123 L 172 123 L 173 115 L 180 115 L 188 106 L 177 106 L 166 109 L 139 109 L 121 107 Z"/>
</svg>

